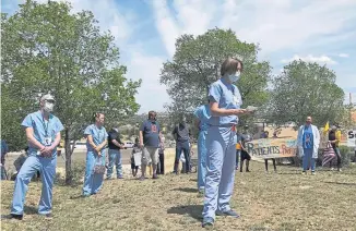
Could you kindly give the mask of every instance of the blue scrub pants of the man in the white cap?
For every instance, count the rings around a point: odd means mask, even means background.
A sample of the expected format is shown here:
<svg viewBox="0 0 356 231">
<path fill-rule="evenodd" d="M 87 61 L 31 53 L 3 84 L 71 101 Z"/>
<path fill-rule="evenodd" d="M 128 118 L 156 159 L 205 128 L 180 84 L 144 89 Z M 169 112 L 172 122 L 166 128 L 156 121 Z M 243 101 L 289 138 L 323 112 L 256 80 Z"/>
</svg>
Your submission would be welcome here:
<svg viewBox="0 0 356 231">
<path fill-rule="evenodd" d="M 28 189 L 27 185 L 37 171 L 40 172 L 40 179 L 43 183 L 41 195 L 38 205 L 38 214 L 46 215 L 51 212 L 56 165 L 57 156 L 54 158 L 29 156 L 25 160 L 15 180 L 15 190 L 13 192 L 11 214 L 23 215 L 25 196 Z"/>
</svg>

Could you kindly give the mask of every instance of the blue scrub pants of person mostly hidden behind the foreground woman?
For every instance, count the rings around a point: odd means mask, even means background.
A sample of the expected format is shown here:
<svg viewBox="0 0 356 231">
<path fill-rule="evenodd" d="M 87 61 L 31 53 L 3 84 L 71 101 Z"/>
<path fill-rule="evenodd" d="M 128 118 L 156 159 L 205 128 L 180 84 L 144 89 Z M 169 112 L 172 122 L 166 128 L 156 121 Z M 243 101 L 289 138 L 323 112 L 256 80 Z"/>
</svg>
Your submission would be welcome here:
<svg viewBox="0 0 356 231">
<path fill-rule="evenodd" d="M 200 131 L 198 136 L 198 190 L 204 190 L 205 187 L 206 135 L 207 135 L 207 131 Z"/>
</svg>

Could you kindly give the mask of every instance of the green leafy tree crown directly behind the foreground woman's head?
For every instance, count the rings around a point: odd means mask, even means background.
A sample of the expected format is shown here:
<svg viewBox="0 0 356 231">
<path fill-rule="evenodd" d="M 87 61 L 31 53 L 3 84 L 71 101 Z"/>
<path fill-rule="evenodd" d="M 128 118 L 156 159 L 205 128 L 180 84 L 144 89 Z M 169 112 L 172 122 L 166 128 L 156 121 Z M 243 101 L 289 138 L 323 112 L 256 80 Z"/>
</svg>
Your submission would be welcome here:
<svg viewBox="0 0 356 231">
<path fill-rule="evenodd" d="M 245 71 L 236 83 L 244 106 L 260 106 L 268 100 L 269 62 L 257 60 L 259 47 L 240 41 L 230 29 L 214 28 L 194 37 L 182 35 L 176 41 L 176 53 L 164 63 L 161 83 L 167 85 L 173 102 L 166 106 L 170 114 L 191 113 L 206 104 L 210 85 L 218 80 L 222 62 L 228 57 L 242 60 Z"/>
</svg>

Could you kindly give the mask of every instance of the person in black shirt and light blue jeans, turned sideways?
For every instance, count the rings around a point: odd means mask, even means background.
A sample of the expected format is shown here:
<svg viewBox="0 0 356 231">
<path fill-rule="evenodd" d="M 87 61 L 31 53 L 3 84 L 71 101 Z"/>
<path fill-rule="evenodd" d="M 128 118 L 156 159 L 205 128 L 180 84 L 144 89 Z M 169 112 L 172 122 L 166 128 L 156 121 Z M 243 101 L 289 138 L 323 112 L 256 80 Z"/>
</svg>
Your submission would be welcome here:
<svg viewBox="0 0 356 231">
<path fill-rule="evenodd" d="M 116 123 L 114 127 L 108 133 L 108 156 L 109 156 L 109 165 L 107 169 L 107 180 L 111 179 L 114 163 L 116 166 L 116 174 L 117 179 L 122 179 L 122 160 L 121 160 L 121 151 L 123 149 L 123 143 L 120 139 L 119 134 L 119 124 Z"/>
</svg>

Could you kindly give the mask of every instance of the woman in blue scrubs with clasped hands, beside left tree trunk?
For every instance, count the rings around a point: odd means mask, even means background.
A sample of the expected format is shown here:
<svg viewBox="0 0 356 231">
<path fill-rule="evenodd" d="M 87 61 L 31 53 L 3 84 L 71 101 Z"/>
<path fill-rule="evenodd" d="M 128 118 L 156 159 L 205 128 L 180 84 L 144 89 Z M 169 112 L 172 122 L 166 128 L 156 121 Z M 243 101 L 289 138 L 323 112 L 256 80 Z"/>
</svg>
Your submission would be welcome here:
<svg viewBox="0 0 356 231">
<path fill-rule="evenodd" d="M 83 186 L 83 196 L 90 196 L 100 191 L 103 186 L 104 173 L 95 173 L 95 165 L 105 166 L 105 148 L 108 134 L 104 125 L 104 113 L 94 113 L 95 123 L 88 125 L 84 135 L 86 137 L 86 168 Z"/>
</svg>

